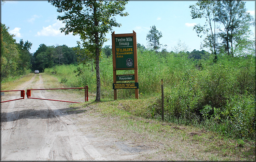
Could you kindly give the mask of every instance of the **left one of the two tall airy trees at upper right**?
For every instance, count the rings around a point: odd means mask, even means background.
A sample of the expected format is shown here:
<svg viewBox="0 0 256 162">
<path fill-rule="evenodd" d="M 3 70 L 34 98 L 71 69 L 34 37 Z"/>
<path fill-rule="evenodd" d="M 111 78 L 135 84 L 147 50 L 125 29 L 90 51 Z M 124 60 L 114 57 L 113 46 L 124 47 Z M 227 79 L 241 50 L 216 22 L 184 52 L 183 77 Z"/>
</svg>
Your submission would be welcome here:
<svg viewBox="0 0 256 162">
<path fill-rule="evenodd" d="M 206 34 L 204 38 L 204 44 L 202 47 L 209 47 L 212 54 L 215 55 L 214 60 L 217 59 L 217 22 L 215 21 L 215 7 L 216 1 L 214 0 L 199 0 L 196 5 L 190 5 L 191 17 L 205 18 L 206 22 L 204 26 L 200 24 L 194 26 L 194 30 L 197 32 L 197 36 L 202 37 L 201 33 Z"/>
</svg>

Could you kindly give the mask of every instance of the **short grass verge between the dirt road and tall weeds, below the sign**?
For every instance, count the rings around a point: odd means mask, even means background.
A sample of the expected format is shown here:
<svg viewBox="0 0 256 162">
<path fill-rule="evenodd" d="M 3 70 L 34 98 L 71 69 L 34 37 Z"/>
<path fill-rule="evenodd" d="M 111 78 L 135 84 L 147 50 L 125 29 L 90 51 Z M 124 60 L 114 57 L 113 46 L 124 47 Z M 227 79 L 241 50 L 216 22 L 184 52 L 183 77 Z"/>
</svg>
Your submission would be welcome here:
<svg viewBox="0 0 256 162">
<path fill-rule="evenodd" d="M 150 119 L 151 99 L 105 100 L 73 106 L 70 111 L 100 113 L 108 130 L 121 140 L 131 140 L 157 149 L 165 160 L 254 161 L 253 141 L 239 141 L 193 126 Z M 71 106 L 72 107 L 72 106 Z M 88 109 L 89 108 L 89 109 Z M 111 123 L 111 124 L 109 124 Z M 102 122 L 104 125 L 105 122 Z"/>
</svg>

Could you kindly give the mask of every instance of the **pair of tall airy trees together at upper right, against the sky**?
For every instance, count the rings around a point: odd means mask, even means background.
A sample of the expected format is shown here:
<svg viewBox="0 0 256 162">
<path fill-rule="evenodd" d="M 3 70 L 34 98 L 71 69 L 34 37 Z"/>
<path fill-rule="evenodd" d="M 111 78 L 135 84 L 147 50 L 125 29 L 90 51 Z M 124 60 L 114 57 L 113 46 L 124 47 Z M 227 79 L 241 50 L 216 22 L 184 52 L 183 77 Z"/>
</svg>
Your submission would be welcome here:
<svg viewBox="0 0 256 162">
<path fill-rule="evenodd" d="M 204 26 L 195 25 L 194 30 L 199 37 L 206 35 L 201 46 L 215 54 L 214 60 L 218 52 L 231 56 L 255 53 L 255 40 L 250 38 L 255 20 L 246 11 L 245 2 L 199 0 L 189 8 L 193 19 L 205 19 Z"/>
</svg>

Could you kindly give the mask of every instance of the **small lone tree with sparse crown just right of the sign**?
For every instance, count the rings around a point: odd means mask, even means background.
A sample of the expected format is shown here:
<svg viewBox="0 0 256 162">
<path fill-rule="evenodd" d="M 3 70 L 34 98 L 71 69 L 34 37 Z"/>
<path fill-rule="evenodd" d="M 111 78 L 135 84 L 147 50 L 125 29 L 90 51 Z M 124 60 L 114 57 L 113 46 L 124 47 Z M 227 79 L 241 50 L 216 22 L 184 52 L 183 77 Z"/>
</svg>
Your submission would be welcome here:
<svg viewBox="0 0 256 162">
<path fill-rule="evenodd" d="M 156 29 L 156 26 L 150 27 L 150 31 L 147 34 L 146 40 L 149 45 L 157 52 L 162 44 L 159 43 L 159 39 L 162 37 L 162 33 Z"/>
</svg>

